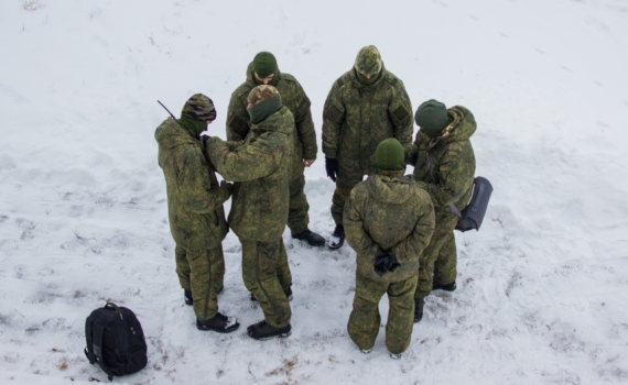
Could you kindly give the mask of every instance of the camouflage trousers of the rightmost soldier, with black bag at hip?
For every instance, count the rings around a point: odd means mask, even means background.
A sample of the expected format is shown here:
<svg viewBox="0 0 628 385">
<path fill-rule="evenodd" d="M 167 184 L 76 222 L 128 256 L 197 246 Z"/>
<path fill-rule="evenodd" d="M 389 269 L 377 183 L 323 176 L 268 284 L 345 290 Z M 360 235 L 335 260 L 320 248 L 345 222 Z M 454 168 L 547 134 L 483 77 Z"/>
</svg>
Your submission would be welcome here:
<svg viewBox="0 0 628 385">
<path fill-rule="evenodd" d="M 448 210 L 448 211 L 447 211 Z M 458 217 L 448 208 L 436 209 L 436 227 L 432 240 L 419 257 L 419 283 L 414 299 L 430 295 L 433 282 L 451 284 L 456 280 L 457 251 L 454 229 Z"/>
</svg>

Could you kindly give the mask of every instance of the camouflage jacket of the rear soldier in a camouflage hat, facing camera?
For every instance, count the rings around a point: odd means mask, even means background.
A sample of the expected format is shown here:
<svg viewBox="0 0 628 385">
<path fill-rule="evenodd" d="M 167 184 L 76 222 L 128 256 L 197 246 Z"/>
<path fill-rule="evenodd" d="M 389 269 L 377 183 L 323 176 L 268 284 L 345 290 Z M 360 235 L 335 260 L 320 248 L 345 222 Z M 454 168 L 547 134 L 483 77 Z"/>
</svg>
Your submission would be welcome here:
<svg viewBox="0 0 628 385">
<path fill-rule="evenodd" d="M 323 152 L 337 158 L 339 175 L 375 170 L 373 154 L 385 139 L 412 142 L 412 105 L 403 82 L 386 68 L 365 86 L 354 69 L 332 86 L 323 111 Z"/>
</svg>

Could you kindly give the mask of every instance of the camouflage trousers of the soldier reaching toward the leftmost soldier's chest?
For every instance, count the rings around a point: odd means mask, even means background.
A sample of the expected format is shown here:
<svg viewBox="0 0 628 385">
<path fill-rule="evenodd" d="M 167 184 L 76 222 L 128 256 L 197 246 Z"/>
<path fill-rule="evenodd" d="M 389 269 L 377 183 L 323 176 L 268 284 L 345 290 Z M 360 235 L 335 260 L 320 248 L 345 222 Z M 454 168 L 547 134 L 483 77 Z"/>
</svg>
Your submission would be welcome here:
<svg viewBox="0 0 628 385">
<path fill-rule="evenodd" d="M 245 286 L 259 301 L 266 322 L 275 328 L 285 327 L 292 310 L 284 290 L 292 285 L 292 275 L 283 239 L 259 242 L 240 238 L 240 242 Z"/>
</svg>

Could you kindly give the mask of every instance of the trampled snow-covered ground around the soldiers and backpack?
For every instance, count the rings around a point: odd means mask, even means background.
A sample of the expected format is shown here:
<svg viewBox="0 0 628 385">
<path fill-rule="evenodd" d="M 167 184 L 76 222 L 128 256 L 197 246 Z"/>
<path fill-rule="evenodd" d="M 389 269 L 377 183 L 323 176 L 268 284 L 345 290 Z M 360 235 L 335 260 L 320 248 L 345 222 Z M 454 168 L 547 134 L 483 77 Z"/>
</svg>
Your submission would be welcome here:
<svg viewBox="0 0 628 385">
<path fill-rule="evenodd" d="M 427 298 L 400 361 L 383 299 L 365 355 L 346 332 L 355 253 L 286 232 L 293 334 L 257 342 L 230 233 L 219 305 L 242 327 L 196 330 L 174 273 L 156 99 L 177 114 L 208 95 L 224 138 L 230 92 L 271 51 L 312 99 L 320 138 L 333 81 L 368 44 L 414 108 L 435 98 L 476 116 L 477 174 L 495 193 L 481 231 L 456 234 L 458 289 Z M 147 369 L 115 382 L 627 383 L 626 47 L 626 0 L 1 1 L 0 383 L 105 380 L 83 348 L 107 299 L 137 312 L 149 345 Z M 311 229 L 327 237 L 322 153 L 306 178 Z"/>
</svg>

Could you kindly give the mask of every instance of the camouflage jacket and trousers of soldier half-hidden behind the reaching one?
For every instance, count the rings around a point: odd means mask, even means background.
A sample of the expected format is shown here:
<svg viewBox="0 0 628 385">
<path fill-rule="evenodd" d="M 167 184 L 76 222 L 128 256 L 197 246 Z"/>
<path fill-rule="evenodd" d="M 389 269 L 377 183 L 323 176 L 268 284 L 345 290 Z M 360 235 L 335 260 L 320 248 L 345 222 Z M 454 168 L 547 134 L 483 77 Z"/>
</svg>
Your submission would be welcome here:
<svg viewBox="0 0 628 385">
<path fill-rule="evenodd" d="M 227 140 L 242 141 L 250 130 L 250 118 L 247 113 L 247 97 L 251 89 L 259 86 L 252 70 L 252 63 L 247 68 L 247 80 L 231 94 L 229 111 L 227 112 Z M 294 139 L 294 153 L 292 160 L 292 177 L 290 180 L 290 209 L 288 227 L 293 233 L 301 233 L 307 229 L 310 205 L 303 189 L 303 160 L 316 160 L 318 147 L 316 145 L 316 131 L 310 112 L 310 99 L 296 81 L 294 76 L 285 73 L 277 74 L 271 82 L 279 94 L 283 105 L 292 112 L 296 133 Z"/>
</svg>

